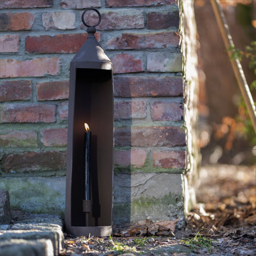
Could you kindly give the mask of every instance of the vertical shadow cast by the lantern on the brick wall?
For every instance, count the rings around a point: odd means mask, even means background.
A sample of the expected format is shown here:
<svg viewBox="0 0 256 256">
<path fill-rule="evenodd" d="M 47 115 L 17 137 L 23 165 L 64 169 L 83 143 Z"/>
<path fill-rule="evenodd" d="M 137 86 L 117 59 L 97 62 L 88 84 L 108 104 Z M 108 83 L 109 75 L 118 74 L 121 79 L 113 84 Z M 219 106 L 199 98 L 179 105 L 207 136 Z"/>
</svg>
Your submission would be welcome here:
<svg viewBox="0 0 256 256">
<path fill-rule="evenodd" d="M 115 89 L 114 79 L 114 89 Z M 118 83 L 118 82 L 117 82 Z M 131 95 L 130 87 L 126 86 L 126 93 Z M 132 100 L 125 102 L 125 116 L 119 109 L 118 98 L 115 98 L 115 150 L 114 150 L 114 208 L 113 224 L 129 226 L 131 223 L 131 165 L 132 165 Z M 123 103 L 123 102 L 122 102 Z M 122 108 L 122 107 L 121 107 Z M 125 120 L 126 119 L 126 120 Z M 122 126 L 119 122 L 122 121 Z M 124 122 L 125 121 L 125 122 Z"/>
</svg>

